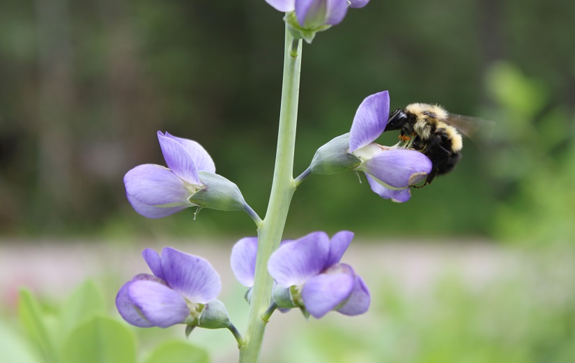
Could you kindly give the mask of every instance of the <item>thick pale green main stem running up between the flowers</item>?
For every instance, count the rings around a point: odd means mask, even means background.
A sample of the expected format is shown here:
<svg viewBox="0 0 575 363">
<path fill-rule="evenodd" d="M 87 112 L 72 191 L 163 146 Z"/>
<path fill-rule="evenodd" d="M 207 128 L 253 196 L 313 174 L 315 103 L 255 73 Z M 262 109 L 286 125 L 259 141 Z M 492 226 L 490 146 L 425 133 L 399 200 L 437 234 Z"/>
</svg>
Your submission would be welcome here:
<svg viewBox="0 0 575 363">
<path fill-rule="evenodd" d="M 256 363 L 259 360 L 263 332 L 266 329 L 266 321 L 262 316 L 270 306 L 273 287 L 273 279 L 268 274 L 268 260 L 282 240 L 291 196 L 296 191 L 293 181 L 293 151 L 296 144 L 302 41 L 293 39 L 287 24 L 284 51 L 284 82 L 272 192 L 266 217 L 258 229 L 256 275 L 250 317 L 244 335 L 245 344 L 240 346 L 240 363 Z"/>
</svg>

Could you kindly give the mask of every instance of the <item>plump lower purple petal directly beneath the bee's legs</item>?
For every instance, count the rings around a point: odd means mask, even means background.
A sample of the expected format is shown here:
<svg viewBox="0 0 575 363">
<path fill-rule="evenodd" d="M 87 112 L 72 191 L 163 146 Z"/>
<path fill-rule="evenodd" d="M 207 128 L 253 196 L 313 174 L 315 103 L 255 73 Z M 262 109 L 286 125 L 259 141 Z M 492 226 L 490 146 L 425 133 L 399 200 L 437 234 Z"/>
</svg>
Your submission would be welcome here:
<svg viewBox="0 0 575 363">
<path fill-rule="evenodd" d="M 392 187 L 417 184 L 431 171 L 431 160 L 419 151 L 382 150 L 367 160 L 360 169 Z"/>
</svg>

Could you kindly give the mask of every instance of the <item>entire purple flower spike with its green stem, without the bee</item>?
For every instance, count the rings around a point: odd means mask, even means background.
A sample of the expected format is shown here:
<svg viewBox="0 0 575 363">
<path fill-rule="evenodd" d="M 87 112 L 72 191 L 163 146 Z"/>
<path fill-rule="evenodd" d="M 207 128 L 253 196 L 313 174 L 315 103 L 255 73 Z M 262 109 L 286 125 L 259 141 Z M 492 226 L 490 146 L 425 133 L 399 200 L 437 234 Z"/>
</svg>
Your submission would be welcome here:
<svg viewBox="0 0 575 363">
<path fill-rule="evenodd" d="M 291 82 L 287 88 L 297 91 L 299 77 L 296 75 L 300 70 L 297 57 L 300 54 L 294 49 L 300 49 L 301 39 L 311 43 L 317 32 L 342 22 L 348 8 L 362 8 L 369 0 L 266 2 L 286 13 L 285 61 L 289 66 L 286 66 L 288 72 L 284 77 Z M 285 100 L 291 103 L 290 109 L 297 110 L 297 92 Z M 282 108 L 283 102 L 284 98 Z M 158 131 L 167 167 L 143 164 L 128 171 L 124 177 L 128 201 L 137 213 L 148 218 L 167 217 L 185 208 L 197 207 L 198 210 L 244 210 L 254 219 L 259 235 L 265 237 L 238 240 L 230 258 L 236 279 L 248 288 L 247 302 L 254 302 L 250 308 L 249 335 L 247 339 L 241 337 L 231 323 L 226 307 L 217 300 L 222 284 L 220 275 L 210 263 L 170 247 L 164 248 L 161 256 L 152 249 L 142 252 L 152 274 L 136 275 L 119 289 L 116 307 L 120 315 L 137 327 L 187 325 L 186 334 L 194 327 L 227 328 L 240 347 L 240 361 L 254 362 L 261 348 L 265 322 L 275 309 L 286 312 L 297 308 L 306 318 L 321 318 L 330 311 L 347 316 L 364 314 L 371 302 L 369 289 L 350 265 L 341 262 L 353 240 L 352 232 L 339 231 L 330 238 L 327 233 L 316 231 L 296 240 L 281 243 L 279 240 L 291 196 L 311 174 L 361 171 L 371 190 L 383 199 L 401 203 L 411 198 L 411 187 L 426 178 L 432 169 L 431 161 L 422 153 L 406 148 L 405 144 L 391 147 L 376 144 L 385 131 L 389 113 L 388 91 L 370 95 L 355 112 L 350 132 L 321 146 L 309 168 L 296 180 L 291 168 L 279 168 L 282 170 L 274 176 L 273 196 L 270 197 L 270 206 L 273 206 L 270 213 L 274 218 L 269 222 L 260 219 L 247 205 L 236 184 L 215 173 L 212 158 L 200 144 Z M 280 117 L 280 125 L 289 125 L 280 130 L 289 131 L 286 135 L 293 137 L 296 134 L 295 118 Z M 288 153 L 286 145 L 290 142 L 293 145 L 294 140 L 284 139 L 278 143 L 276 162 L 290 166 L 293 150 Z M 276 185 L 282 186 L 276 188 Z M 278 243 L 279 247 L 273 251 Z M 259 255 L 259 250 L 263 251 L 263 256 Z M 256 264 L 258 258 L 260 261 Z M 256 274 L 258 281 L 265 283 L 254 290 L 252 299 Z M 262 314 L 266 304 L 270 306 Z"/>
</svg>

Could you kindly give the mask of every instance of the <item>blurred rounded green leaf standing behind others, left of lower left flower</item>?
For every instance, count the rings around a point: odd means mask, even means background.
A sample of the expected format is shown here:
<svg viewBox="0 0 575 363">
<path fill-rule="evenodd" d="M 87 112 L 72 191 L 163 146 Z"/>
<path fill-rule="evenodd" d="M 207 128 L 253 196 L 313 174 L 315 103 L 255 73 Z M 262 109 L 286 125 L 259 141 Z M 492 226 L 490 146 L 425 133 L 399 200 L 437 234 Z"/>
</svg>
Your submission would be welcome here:
<svg viewBox="0 0 575 363">
<path fill-rule="evenodd" d="M 62 336 L 66 337 L 80 323 L 103 313 L 105 303 L 102 292 L 93 280 L 86 280 L 72 293 L 61 310 Z"/>
</svg>

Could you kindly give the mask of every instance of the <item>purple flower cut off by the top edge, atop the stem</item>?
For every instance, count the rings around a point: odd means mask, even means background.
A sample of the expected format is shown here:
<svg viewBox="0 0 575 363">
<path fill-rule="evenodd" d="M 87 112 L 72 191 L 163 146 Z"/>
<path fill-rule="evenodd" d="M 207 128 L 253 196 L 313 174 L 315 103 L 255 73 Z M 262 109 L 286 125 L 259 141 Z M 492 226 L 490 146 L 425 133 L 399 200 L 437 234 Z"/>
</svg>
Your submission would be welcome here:
<svg viewBox="0 0 575 363">
<path fill-rule="evenodd" d="M 295 12 L 296 20 L 303 29 L 337 25 L 349 8 L 363 8 L 369 0 L 266 0 L 276 10 Z"/>
</svg>

